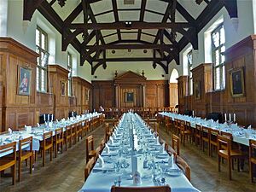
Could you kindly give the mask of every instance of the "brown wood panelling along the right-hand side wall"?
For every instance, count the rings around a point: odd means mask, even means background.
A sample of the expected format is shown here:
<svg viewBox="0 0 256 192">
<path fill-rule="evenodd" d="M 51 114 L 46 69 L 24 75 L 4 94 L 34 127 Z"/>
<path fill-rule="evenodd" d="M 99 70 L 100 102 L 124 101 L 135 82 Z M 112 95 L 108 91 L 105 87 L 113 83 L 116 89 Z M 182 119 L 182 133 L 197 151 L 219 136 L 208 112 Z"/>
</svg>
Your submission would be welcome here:
<svg viewBox="0 0 256 192">
<path fill-rule="evenodd" d="M 249 36 L 235 44 L 225 52 L 226 87 L 221 91 L 212 90 L 212 65 L 201 64 L 192 70 L 193 84 L 201 82 L 201 98 L 195 94 L 183 93 L 188 87 L 188 79 L 178 79 L 178 102 L 181 113 L 184 110 L 195 110 L 195 115 L 205 117 L 207 113 L 236 113 L 240 125 L 256 126 L 256 36 Z M 230 73 L 243 68 L 245 79 L 245 95 L 233 97 L 230 88 Z M 195 90 L 194 90 L 195 92 Z"/>
</svg>

